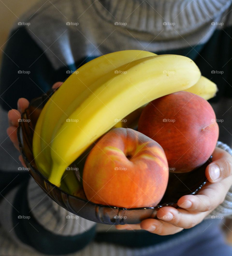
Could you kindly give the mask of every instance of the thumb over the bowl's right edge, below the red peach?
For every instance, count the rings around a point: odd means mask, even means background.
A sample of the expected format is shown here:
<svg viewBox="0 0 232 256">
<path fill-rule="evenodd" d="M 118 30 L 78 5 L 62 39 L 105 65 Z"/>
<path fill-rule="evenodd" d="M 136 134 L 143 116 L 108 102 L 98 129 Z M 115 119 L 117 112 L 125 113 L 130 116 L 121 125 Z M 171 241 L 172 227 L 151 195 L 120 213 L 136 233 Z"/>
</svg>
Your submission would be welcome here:
<svg viewBox="0 0 232 256">
<path fill-rule="evenodd" d="M 225 150 L 216 147 L 213 162 L 206 167 L 205 176 L 209 182 L 219 182 L 232 175 L 232 156 Z"/>
</svg>

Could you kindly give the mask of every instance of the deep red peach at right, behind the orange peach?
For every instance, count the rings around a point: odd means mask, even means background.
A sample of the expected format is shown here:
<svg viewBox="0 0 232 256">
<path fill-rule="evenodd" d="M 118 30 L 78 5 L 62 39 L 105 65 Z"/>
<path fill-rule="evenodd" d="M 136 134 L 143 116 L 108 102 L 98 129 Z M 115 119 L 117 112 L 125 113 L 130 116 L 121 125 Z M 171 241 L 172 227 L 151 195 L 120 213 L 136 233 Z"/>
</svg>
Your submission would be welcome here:
<svg viewBox="0 0 232 256">
<path fill-rule="evenodd" d="M 189 172 L 204 164 L 219 135 L 211 105 L 185 91 L 150 102 L 140 116 L 138 131 L 162 146 L 175 172 Z"/>
</svg>

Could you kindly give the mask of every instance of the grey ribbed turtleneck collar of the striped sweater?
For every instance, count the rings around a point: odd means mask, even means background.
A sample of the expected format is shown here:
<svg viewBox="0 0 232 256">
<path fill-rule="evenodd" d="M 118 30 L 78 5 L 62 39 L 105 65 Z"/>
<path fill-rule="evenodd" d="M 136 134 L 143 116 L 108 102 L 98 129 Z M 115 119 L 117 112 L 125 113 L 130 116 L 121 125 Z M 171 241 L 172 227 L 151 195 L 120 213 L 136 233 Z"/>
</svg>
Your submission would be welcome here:
<svg viewBox="0 0 232 256">
<path fill-rule="evenodd" d="M 230 4 L 231 0 L 93 0 L 93 7 L 107 22 L 152 34 L 173 28 L 191 33 L 211 23 Z"/>
</svg>

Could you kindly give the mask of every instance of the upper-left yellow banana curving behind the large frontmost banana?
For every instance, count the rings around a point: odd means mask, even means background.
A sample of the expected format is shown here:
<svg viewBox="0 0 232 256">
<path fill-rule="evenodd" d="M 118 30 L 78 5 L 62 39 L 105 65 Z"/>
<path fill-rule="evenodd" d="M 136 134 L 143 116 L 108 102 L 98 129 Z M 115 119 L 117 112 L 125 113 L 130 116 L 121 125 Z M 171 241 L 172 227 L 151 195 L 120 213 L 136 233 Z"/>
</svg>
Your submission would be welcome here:
<svg viewBox="0 0 232 256">
<path fill-rule="evenodd" d="M 118 67 L 148 56 L 156 56 L 156 54 L 141 50 L 113 52 L 87 62 L 69 76 L 53 94 L 52 100 L 46 103 L 48 108 L 42 110 L 41 118 L 43 117 L 43 122 L 40 135 L 42 139 L 40 143 L 47 162 L 51 161 L 50 143 L 54 139 L 53 134 L 57 133 L 60 126 L 81 104 L 83 99 L 92 94 L 94 89 L 90 90 L 90 85 L 108 72 L 112 70 L 120 72 L 120 70 L 117 70 Z M 38 120 L 38 122 L 40 123 L 41 120 Z M 39 126 L 36 127 L 35 132 L 37 132 L 37 129 L 39 129 Z"/>
</svg>

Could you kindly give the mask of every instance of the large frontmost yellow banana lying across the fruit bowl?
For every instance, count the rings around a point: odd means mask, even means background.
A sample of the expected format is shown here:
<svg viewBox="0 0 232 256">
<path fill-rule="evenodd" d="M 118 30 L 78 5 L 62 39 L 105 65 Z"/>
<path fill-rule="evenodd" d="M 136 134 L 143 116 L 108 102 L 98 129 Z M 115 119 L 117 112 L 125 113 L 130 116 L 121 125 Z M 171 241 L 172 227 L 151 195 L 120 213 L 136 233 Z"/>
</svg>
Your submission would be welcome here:
<svg viewBox="0 0 232 256">
<path fill-rule="evenodd" d="M 157 55 L 134 60 L 96 80 L 92 93 L 61 125 L 51 144 L 49 181 L 59 186 L 65 168 L 105 132 L 140 106 L 164 95 L 186 90 L 201 76 L 196 64 L 179 55 Z M 168 71 L 168 72 L 167 72 Z M 172 72 L 170 72 L 172 71 Z"/>
</svg>

